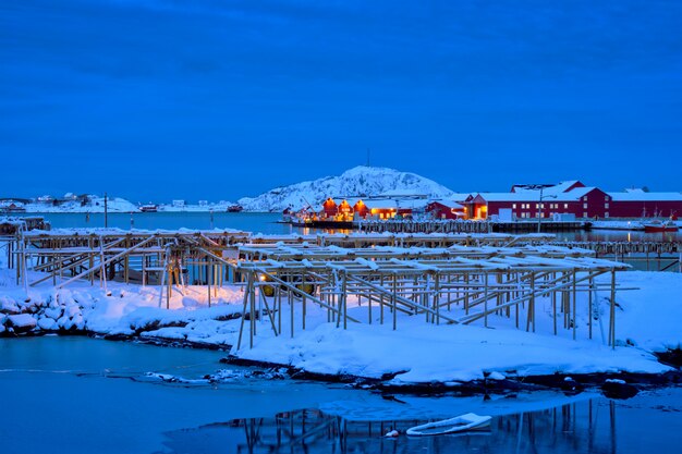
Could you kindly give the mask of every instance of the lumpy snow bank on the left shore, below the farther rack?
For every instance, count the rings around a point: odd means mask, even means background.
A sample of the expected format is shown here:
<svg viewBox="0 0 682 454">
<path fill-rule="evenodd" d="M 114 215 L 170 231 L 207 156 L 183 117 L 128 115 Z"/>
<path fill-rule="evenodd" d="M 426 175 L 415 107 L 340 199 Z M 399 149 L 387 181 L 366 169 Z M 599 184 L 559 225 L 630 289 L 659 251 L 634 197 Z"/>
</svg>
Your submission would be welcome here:
<svg viewBox="0 0 682 454">
<path fill-rule="evenodd" d="M 50 285 L 25 293 L 0 271 L 0 333 L 26 331 L 87 331 L 97 334 L 141 335 L 186 340 L 214 345 L 234 343 L 243 294 L 219 289 L 208 307 L 205 287 L 176 287 L 170 310 L 159 306 L 159 287 L 110 282 L 99 286 L 77 283 L 57 290 Z M 195 305 L 185 307 L 187 299 Z M 240 302 L 240 304 L 232 304 Z"/>
</svg>

